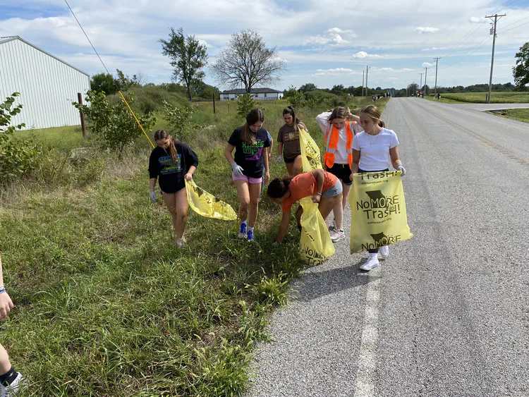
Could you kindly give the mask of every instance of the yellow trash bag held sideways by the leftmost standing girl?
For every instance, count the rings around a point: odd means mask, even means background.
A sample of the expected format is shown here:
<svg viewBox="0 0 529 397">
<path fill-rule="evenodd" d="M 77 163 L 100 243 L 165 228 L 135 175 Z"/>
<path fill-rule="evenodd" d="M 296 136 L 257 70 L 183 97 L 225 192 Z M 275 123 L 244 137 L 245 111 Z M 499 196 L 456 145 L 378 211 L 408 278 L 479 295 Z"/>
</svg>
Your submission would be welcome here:
<svg viewBox="0 0 529 397">
<path fill-rule="evenodd" d="M 197 214 L 224 221 L 237 219 L 237 214 L 229 204 L 199 188 L 195 181 L 186 181 L 186 192 L 188 193 L 189 206 Z"/>
</svg>

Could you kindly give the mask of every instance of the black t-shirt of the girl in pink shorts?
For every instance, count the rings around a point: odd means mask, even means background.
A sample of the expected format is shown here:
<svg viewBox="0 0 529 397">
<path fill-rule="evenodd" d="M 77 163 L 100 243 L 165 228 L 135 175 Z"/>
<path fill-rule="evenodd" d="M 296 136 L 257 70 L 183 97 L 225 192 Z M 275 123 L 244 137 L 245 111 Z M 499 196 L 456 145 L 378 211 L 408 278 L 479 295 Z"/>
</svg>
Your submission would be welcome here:
<svg viewBox="0 0 529 397">
<path fill-rule="evenodd" d="M 269 134 L 265 128 L 260 128 L 255 133 L 255 145 L 248 145 L 241 140 L 241 127 L 236 128 L 231 134 L 228 143 L 235 146 L 233 160 L 237 165 L 243 167 L 243 175 L 248 178 L 262 177 L 262 155 L 265 147 L 270 147 Z"/>
</svg>

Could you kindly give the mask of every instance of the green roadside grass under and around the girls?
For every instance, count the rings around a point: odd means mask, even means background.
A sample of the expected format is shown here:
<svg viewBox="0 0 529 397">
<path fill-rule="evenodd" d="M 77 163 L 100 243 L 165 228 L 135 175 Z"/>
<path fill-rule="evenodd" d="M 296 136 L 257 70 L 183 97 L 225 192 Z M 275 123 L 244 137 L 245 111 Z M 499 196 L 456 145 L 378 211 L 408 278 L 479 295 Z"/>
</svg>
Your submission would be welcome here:
<svg viewBox="0 0 529 397">
<path fill-rule="evenodd" d="M 275 138 L 286 102 L 262 106 Z M 212 127 L 188 142 L 200 159 L 195 181 L 237 209 L 222 151 L 242 121 L 212 116 L 205 103 L 200 112 Z M 316 114 L 299 116 L 321 145 Z M 0 342 L 30 381 L 23 396 L 243 395 L 269 314 L 303 269 L 295 221 L 272 249 L 281 209 L 271 200 L 260 202 L 252 245 L 236 238 L 236 221 L 190 211 L 188 247 L 175 250 L 169 213 L 147 195 L 145 138 L 122 161 L 96 153 L 71 164 L 63 152 L 83 145 L 78 132 L 35 131 L 56 152 L 40 176 L 0 191 L 4 281 L 16 305 Z M 271 164 L 272 176 L 286 173 Z"/>
</svg>

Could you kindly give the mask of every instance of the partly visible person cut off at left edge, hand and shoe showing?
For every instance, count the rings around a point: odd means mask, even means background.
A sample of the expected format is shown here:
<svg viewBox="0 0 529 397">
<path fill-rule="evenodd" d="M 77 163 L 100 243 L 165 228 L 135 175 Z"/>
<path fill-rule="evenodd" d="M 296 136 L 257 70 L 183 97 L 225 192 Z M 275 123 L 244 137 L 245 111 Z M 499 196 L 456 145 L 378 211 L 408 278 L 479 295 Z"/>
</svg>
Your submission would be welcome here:
<svg viewBox="0 0 529 397">
<path fill-rule="evenodd" d="M 0 319 L 6 319 L 14 305 L 4 286 L 2 272 L 2 258 L 0 257 Z M 4 346 L 0 345 L 0 396 L 15 396 L 24 384 L 24 378 L 20 372 L 16 372 L 9 361 L 9 355 Z"/>
</svg>

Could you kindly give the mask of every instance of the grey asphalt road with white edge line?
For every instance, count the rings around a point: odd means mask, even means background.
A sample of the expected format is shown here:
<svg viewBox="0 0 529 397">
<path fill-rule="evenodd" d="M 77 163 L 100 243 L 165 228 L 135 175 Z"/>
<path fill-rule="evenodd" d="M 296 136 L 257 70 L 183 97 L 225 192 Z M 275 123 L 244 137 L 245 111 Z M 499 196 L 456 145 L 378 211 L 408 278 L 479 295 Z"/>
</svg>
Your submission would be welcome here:
<svg viewBox="0 0 529 397">
<path fill-rule="evenodd" d="M 248 395 L 529 396 L 529 125 L 419 98 L 382 118 L 415 236 L 306 271 Z"/>
</svg>

